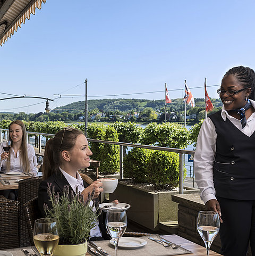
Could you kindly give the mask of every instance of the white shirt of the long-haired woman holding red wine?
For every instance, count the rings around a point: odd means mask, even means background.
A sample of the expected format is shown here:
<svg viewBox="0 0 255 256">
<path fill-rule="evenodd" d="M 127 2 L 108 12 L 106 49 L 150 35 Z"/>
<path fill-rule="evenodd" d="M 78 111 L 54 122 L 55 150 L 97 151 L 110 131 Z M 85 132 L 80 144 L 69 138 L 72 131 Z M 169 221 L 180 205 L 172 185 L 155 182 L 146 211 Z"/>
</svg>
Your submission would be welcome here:
<svg viewBox="0 0 255 256">
<path fill-rule="evenodd" d="M 28 148 L 28 162 L 29 162 L 29 172 L 35 174 L 37 176 L 37 160 L 36 160 L 36 154 L 35 150 L 32 145 L 27 143 L 27 148 Z M 3 143 L 0 146 L 0 154 L 4 152 L 3 149 Z M 10 171 L 20 171 L 24 172 L 24 168 L 21 163 L 21 158 L 20 158 L 20 150 L 17 151 L 17 156 L 15 156 L 15 152 L 13 148 L 11 147 L 9 151 L 10 155 Z M 2 160 L 0 164 L 0 171 L 1 172 L 7 172 L 6 170 L 6 161 Z"/>
</svg>

